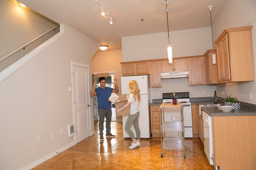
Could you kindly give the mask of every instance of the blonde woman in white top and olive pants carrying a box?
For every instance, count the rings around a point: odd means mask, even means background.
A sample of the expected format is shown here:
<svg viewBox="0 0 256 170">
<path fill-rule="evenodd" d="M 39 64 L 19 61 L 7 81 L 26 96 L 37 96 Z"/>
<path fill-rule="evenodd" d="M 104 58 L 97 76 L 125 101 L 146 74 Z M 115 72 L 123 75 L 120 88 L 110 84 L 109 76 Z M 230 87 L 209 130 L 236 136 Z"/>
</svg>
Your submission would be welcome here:
<svg viewBox="0 0 256 170">
<path fill-rule="evenodd" d="M 118 115 L 119 112 L 123 111 L 123 109 L 130 106 L 130 115 L 128 116 L 126 124 L 125 124 L 125 131 L 132 138 L 132 143 L 129 148 L 134 149 L 134 148 L 140 146 L 140 127 L 139 127 L 140 89 L 138 87 L 137 81 L 135 81 L 135 80 L 130 81 L 129 89 L 130 89 L 131 94 L 128 98 L 127 103 L 123 107 L 116 109 L 116 114 Z M 135 138 L 135 136 L 131 130 L 132 124 L 136 131 L 137 139 Z"/>
</svg>

